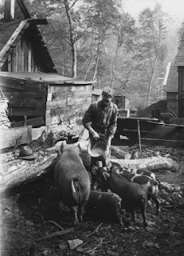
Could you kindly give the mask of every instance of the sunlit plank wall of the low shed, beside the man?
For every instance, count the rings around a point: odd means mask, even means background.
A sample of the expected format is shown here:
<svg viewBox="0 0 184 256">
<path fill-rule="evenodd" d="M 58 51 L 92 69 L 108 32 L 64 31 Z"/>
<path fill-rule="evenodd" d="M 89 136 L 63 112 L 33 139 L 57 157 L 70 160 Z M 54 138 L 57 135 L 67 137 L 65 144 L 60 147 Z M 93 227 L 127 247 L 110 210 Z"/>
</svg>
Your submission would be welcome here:
<svg viewBox="0 0 184 256">
<path fill-rule="evenodd" d="M 92 102 L 92 85 L 49 85 L 45 125 L 77 122 Z"/>
</svg>

